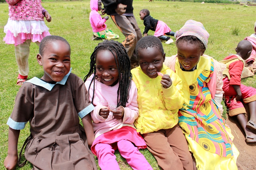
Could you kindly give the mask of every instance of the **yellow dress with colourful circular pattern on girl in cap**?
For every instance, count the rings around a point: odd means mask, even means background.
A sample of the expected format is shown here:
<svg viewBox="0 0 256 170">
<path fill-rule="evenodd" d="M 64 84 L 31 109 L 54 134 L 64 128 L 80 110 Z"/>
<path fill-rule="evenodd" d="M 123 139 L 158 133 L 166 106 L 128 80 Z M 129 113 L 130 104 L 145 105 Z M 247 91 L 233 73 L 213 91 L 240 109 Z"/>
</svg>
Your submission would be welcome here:
<svg viewBox="0 0 256 170">
<path fill-rule="evenodd" d="M 185 99 L 178 112 L 179 125 L 196 159 L 198 170 L 235 170 L 239 152 L 207 86 L 213 70 L 213 60 L 201 57 L 196 70 L 182 71 L 176 58 L 175 72 L 182 79 Z"/>
</svg>

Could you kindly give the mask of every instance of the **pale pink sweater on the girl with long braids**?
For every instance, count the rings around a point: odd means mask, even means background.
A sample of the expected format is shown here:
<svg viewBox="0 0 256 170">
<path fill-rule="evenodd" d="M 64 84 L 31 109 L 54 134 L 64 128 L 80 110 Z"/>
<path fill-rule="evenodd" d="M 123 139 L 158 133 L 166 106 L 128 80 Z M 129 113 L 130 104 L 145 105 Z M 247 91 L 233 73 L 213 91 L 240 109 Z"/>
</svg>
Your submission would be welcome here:
<svg viewBox="0 0 256 170">
<path fill-rule="evenodd" d="M 92 77 L 93 75 L 90 76 L 84 83 L 87 91 L 89 92 L 90 100 L 92 100 L 93 82 L 90 87 L 90 90 L 88 90 L 88 88 L 92 80 Z M 103 133 L 106 133 L 110 130 L 119 129 L 123 126 L 131 126 L 135 128 L 133 122 L 139 116 L 139 109 L 137 102 L 137 87 L 133 81 L 131 83 L 131 89 L 129 92 L 129 100 L 126 103 L 126 107 L 124 107 L 124 118 L 117 120 L 113 117 L 112 112 L 109 112 L 107 119 L 104 119 L 99 115 L 99 111 L 102 108 L 116 108 L 118 86 L 119 83 L 117 83 L 114 86 L 109 86 L 100 83 L 98 80 L 95 80 L 95 91 L 93 98 L 93 105 L 95 106 L 95 108 L 91 112 L 95 138 Z"/>
</svg>

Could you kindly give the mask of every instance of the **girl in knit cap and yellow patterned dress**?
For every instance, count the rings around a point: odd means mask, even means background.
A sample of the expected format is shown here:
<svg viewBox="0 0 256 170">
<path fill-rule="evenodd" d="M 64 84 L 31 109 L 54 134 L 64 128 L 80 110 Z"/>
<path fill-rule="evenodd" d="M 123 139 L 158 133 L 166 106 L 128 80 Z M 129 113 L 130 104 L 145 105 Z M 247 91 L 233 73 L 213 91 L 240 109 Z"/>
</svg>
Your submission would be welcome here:
<svg viewBox="0 0 256 170">
<path fill-rule="evenodd" d="M 179 125 L 195 158 L 194 169 L 236 170 L 239 152 L 218 107 L 223 84 L 216 74 L 221 71 L 216 60 L 203 56 L 209 33 L 202 23 L 188 20 L 175 36 L 177 55 L 165 63 L 182 79 L 185 101 Z"/>
</svg>

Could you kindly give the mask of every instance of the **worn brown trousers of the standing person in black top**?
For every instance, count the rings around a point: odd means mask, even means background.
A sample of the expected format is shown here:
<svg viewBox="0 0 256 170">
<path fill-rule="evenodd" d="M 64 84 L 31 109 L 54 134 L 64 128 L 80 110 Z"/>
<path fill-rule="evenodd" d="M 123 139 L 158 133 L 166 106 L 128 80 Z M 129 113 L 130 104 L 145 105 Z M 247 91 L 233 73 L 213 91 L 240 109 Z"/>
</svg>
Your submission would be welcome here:
<svg viewBox="0 0 256 170">
<path fill-rule="evenodd" d="M 116 15 L 111 16 L 111 18 L 125 36 L 125 40 L 122 44 L 127 51 L 131 64 L 138 63 L 138 59 L 135 54 L 135 47 L 137 42 L 142 38 L 142 34 L 135 17 Z"/>
</svg>

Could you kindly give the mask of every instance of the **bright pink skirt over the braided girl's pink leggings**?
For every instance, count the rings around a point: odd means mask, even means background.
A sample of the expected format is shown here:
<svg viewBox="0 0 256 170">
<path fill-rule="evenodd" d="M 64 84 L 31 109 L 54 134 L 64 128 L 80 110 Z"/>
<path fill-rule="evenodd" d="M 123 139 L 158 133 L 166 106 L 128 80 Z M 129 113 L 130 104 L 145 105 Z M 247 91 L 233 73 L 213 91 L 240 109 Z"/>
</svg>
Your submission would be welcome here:
<svg viewBox="0 0 256 170">
<path fill-rule="evenodd" d="M 124 126 L 120 129 L 112 130 L 106 133 L 103 133 L 99 137 L 96 137 L 96 139 L 92 143 L 92 153 L 96 155 L 95 152 L 95 145 L 98 143 L 104 143 L 104 144 L 112 144 L 112 148 L 114 150 L 118 149 L 117 143 L 118 141 L 126 139 L 135 144 L 138 149 L 145 149 L 147 148 L 146 142 L 144 141 L 143 137 L 136 131 L 136 129 L 130 127 L 130 126 Z"/>
</svg>

